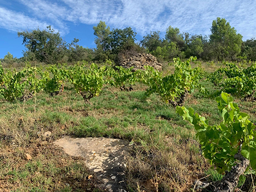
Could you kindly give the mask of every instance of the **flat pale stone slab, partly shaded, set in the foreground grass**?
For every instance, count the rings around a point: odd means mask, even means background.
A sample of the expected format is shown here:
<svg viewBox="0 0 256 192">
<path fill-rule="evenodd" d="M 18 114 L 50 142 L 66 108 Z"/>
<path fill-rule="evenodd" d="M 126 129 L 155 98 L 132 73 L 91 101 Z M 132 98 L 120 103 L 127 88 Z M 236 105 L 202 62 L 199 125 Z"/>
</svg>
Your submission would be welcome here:
<svg viewBox="0 0 256 192">
<path fill-rule="evenodd" d="M 125 157 L 129 150 L 129 141 L 109 138 L 71 138 L 65 137 L 54 142 L 63 147 L 70 156 L 86 158 L 90 170 L 101 179 L 102 189 L 126 191 Z"/>
</svg>

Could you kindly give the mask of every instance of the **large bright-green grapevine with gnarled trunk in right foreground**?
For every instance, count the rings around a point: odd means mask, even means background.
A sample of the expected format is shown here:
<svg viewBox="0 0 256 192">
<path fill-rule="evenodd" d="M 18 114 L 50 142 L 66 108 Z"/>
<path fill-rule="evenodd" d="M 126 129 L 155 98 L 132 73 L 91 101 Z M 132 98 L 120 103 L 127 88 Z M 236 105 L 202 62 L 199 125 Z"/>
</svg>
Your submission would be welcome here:
<svg viewBox="0 0 256 192">
<path fill-rule="evenodd" d="M 233 191 L 248 165 L 256 170 L 256 126 L 249 121 L 248 114 L 240 112 L 229 94 L 223 92 L 216 101 L 223 118 L 219 125 L 210 126 L 208 120 L 194 113 L 192 108 L 177 106 L 176 113 L 196 129 L 204 157 L 216 166 L 218 172 L 229 171 L 221 185 L 223 189 L 228 187 Z"/>
</svg>

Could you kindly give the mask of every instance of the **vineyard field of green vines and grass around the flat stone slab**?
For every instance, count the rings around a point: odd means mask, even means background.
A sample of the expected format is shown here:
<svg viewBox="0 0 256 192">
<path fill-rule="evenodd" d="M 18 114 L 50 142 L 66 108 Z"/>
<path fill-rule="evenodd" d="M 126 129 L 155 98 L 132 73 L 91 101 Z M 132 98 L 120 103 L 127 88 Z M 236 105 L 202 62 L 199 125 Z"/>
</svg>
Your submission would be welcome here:
<svg viewBox="0 0 256 192">
<path fill-rule="evenodd" d="M 255 191 L 256 63 L 208 72 L 196 59 L 163 72 L 111 60 L 0 65 L 0 191 L 101 191 L 83 159 L 53 147 L 64 135 L 133 143 L 129 191 Z"/>
</svg>

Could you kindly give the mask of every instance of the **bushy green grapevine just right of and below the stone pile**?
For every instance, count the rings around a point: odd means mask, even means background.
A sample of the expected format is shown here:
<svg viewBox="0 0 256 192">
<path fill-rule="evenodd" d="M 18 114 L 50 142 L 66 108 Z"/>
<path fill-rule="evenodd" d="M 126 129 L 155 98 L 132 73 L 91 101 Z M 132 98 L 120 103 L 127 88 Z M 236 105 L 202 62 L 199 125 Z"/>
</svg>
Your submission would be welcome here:
<svg viewBox="0 0 256 192">
<path fill-rule="evenodd" d="M 190 65 L 190 62 L 194 60 L 196 58 L 193 57 L 185 62 L 180 61 L 180 59 L 174 59 L 174 74 L 164 77 L 162 77 L 161 72 L 148 67 L 145 73 L 152 76 L 148 76 L 148 80 L 147 78 L 144 80 L 149 86 L 146 95 L 149 96 L 156 92 L 164 102 L 176 107 L 181 106 L 184 103 L 185 97 L 195 89 L 206 94 L 205 88 L 199 84 L 199 80 L 202 78 L 202 69 L 199 67 L 192 69 Z"/>
</svg>

